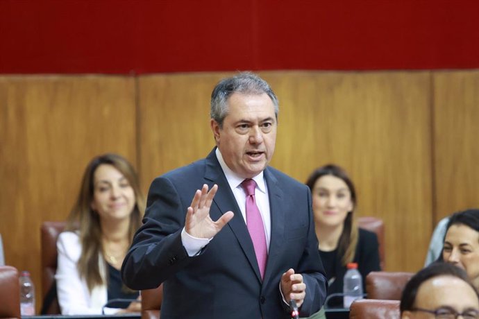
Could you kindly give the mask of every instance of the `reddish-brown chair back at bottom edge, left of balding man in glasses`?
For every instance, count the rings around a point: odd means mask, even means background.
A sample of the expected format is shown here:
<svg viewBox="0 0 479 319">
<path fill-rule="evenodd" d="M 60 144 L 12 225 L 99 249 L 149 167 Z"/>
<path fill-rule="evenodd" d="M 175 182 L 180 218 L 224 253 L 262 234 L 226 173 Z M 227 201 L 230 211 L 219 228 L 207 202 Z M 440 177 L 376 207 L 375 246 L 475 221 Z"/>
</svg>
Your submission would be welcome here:
<svg viewBox="0 0 479 319">
<path fill-rule="evenodd" d="M 399 300 L 360 299 L 351 304 L 350 319 L 399 319 Z"/>
</svg>

